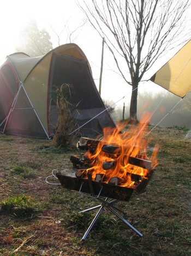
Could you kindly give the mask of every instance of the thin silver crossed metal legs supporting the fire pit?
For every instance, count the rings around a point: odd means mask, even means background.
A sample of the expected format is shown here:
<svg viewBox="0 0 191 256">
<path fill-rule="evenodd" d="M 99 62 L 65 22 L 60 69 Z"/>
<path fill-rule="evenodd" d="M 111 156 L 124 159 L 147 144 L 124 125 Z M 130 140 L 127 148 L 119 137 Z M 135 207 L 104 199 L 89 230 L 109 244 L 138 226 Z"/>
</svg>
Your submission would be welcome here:
<svg viewBox="0 0 191 256">
<path fill-rule="evenodd" d="M 89 179 L 88 179 L 89 180 Z M 118 214 L 116 211 L 121 212 L 122 214 L 126 214 L 124 213 L 121 209 L 119 209 L 118 207 L 114 206 L 113 204 L 117 202 L 117 200 L 111 200 L 109 201 L 109 197 L 106 197 L 105 200 L 103 200 L 102 198 L 100 198 L 100 194 L 102 192 L 102 188 L 100 189 L 100 192 L 98 194 L 98 196 L 95 196 L 93 193 L 93 186 L 91 183 L 91 180 L 89 180 L 89 188 L 91 190 L 91 194 L 87 195 L 85 193 L 81 192 L 81 188 L 82 188 L 83 183 L 81 184 L 80 187 L 80 193 L 83 195 L 86 195 L 88 197 L 92 197 L 98 201 L 100 201 L 102 204 L 99 204 L 98 206 L 94 206 L 92 208 L 83 210 L 79 213 L 85 213 L 85 212 L 89 212 L 89 211 L 93 211 L 95 209 L 99 209 L 99 211 L 97 212 L 96 216 L 94 217 L 94 219 L 92 220 L 92 223 L 89 225 L 88 229 L 86 230 L 85 234 L 83 235 L 81 241 L 85 241 L 87 235 L 89 234 L 89 232 L 92 230 L 93 225 L 96 223 L 96 220 L 98 219 L 99 215 L 102 213 L 104 207 L 106 207 L 107 209 L 109 209 L 110 212 L 114 213 L 116 215 L 117 218 L 121 219 L 125 224 L 127 224 L 132 230 L 134 230 L 136 232 L 136 234 L 138 234 L 140 237 L 143 237 L 144 235 L 142 235 L 138 230 L 135 229 L 135 227 L 133 227 L 130 223 L 128 223 L 127 220 L 125 220 L 123 217 L 121 217 L 120 214 Z"/>
</svg>

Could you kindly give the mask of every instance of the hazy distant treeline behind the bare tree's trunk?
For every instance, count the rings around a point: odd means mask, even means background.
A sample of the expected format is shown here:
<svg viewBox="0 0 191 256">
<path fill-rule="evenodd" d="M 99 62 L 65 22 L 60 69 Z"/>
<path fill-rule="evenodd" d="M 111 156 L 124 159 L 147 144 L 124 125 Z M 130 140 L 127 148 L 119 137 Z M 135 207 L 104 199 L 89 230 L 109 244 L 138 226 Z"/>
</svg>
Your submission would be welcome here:
<svg viewBox="0 0 191 256">
<path fill-rule="evenodd" d="M 191 93 L 187 94 L 181 101 L 180 97 L 174 94 L 158 93 L 149 94 L 142 93 L 138 95 L 138 120 L 146 113 L 150 112 L 152 117 L 150 124 L 162 127 L 186 127 L 191 128 Z M 180 101 L 180 103 L 178 103 Z M 174 106 L 178 105 L 174 108 Z M 174 109 L 173 109 L 174 108 Z M 172 110 L 173 109 L 173 110 Z M 171 111 L 172 110 L 172 111 Z M 123 107 L 115 107 L 112 116 L 116 121 L 122 120 Z M 154 113 L 153 113 L 154 112 Z M 129 106 L 126 105 L 125 118 L 129 116 Z"/>
</svg>

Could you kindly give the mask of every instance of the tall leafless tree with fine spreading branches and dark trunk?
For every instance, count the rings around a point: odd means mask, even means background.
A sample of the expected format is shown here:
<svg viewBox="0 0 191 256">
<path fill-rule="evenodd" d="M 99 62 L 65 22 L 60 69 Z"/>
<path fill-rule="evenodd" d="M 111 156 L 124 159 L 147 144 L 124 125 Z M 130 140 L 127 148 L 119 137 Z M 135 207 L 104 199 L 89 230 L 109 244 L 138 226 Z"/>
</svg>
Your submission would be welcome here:
<svg viewBox="0 0 191 256">
<path fill-rule="evenodd" d="M 130 118 L 136 120 L 138 86 L 159 56 L 188 39 L 189 0 L 76 0 L 105 38 L 120 75 L 132 86 Z M 88 4 L 90 3 L 90 4 Z"/>
</svg>

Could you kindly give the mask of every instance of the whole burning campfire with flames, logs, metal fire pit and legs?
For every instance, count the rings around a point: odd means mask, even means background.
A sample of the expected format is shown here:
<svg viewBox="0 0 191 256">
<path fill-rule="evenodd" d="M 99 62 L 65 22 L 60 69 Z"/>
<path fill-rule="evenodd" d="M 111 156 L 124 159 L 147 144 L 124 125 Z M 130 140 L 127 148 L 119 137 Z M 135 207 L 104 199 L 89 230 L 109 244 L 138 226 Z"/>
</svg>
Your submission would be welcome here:
<svg viewBox="0 0 191 256">
<path fill-rule="evenodd" d="M 125 213 L 114 203 L 118 200 L 129 201 L 134 191 L 139 194 L 145 192 L 158 164 L 158 145 L 148 156 L 150 140 L 146 139 L 147 126 L 148 122 L 141 120 L 138 126 L 130 126 L 126 132 L 122 132 L 124 127 L 105 128 L 102 139 L 80 138 L 77 143 L 80 155 L 70 157 L 73 168 L 56 174 L 64 188 L 79 191 L 102 203 L 80 212 L 99 209 L 81 241 L 86 239 L 104 208 L 109 209 L 140 237 L 143 236 L 118 214 Z M 105 200 L 103 197 L 106 197 Z"/>
</svg>

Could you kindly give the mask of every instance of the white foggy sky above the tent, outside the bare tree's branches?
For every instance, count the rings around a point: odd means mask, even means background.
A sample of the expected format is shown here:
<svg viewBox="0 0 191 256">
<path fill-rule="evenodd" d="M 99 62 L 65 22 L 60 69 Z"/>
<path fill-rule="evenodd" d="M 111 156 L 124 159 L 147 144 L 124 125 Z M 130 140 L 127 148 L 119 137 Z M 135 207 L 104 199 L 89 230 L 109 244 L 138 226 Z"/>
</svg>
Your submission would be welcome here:
<svg viewBox="0 0 191 256">
<path fill-rule="evenodd" d="M 19 41 L 20 31 L 32 19 L 37 21 L 39 29 L 45 28 L 51 36 L 53 48 L 58 46 L 56 35 L 61 33 L 65 24 L 70 26 L 70 32 L 74 31 L 77 26 L 84 20 L 83 14 L 76 7 L 73 0 L 34 0 L 31 2 L 25 0 L 9 0 L 1 2 L 0 22 L 0 61 L 8 54 L 15 51 L 16 43 Z M 52 27 L 52 29 L 51 29 Z M 77 35 L 77 34 L 76 34 Z M 61 43 L 69 43 L 67 33 L 61 33 Z M 102 38 L 89 25 L 85 25 L 79 30 L 79 34 L 74 39 L 74 43 L 86 54 L 92 68 L 93 78 L 98 87 L 100 75 L 100 62 L 102 54 Z M 116 72 L 114 72 L 114 70 Z M 153 75 L 153 74 L 151 74 Z M 119 101 L 126 96 L 126 103 L 130 100 L 132 88 L 117 74 L 114 60 L 111 58 L 109 51 L 104 49 L 104 70 L 102 78 L 102 98 L 106 100 Z M 140 92 L 150 90 L 160 92 L 163 90 L 156 84 L 142 83 Z M 122 104 L 122 101 L 117 103 Z"/>
</svg>

